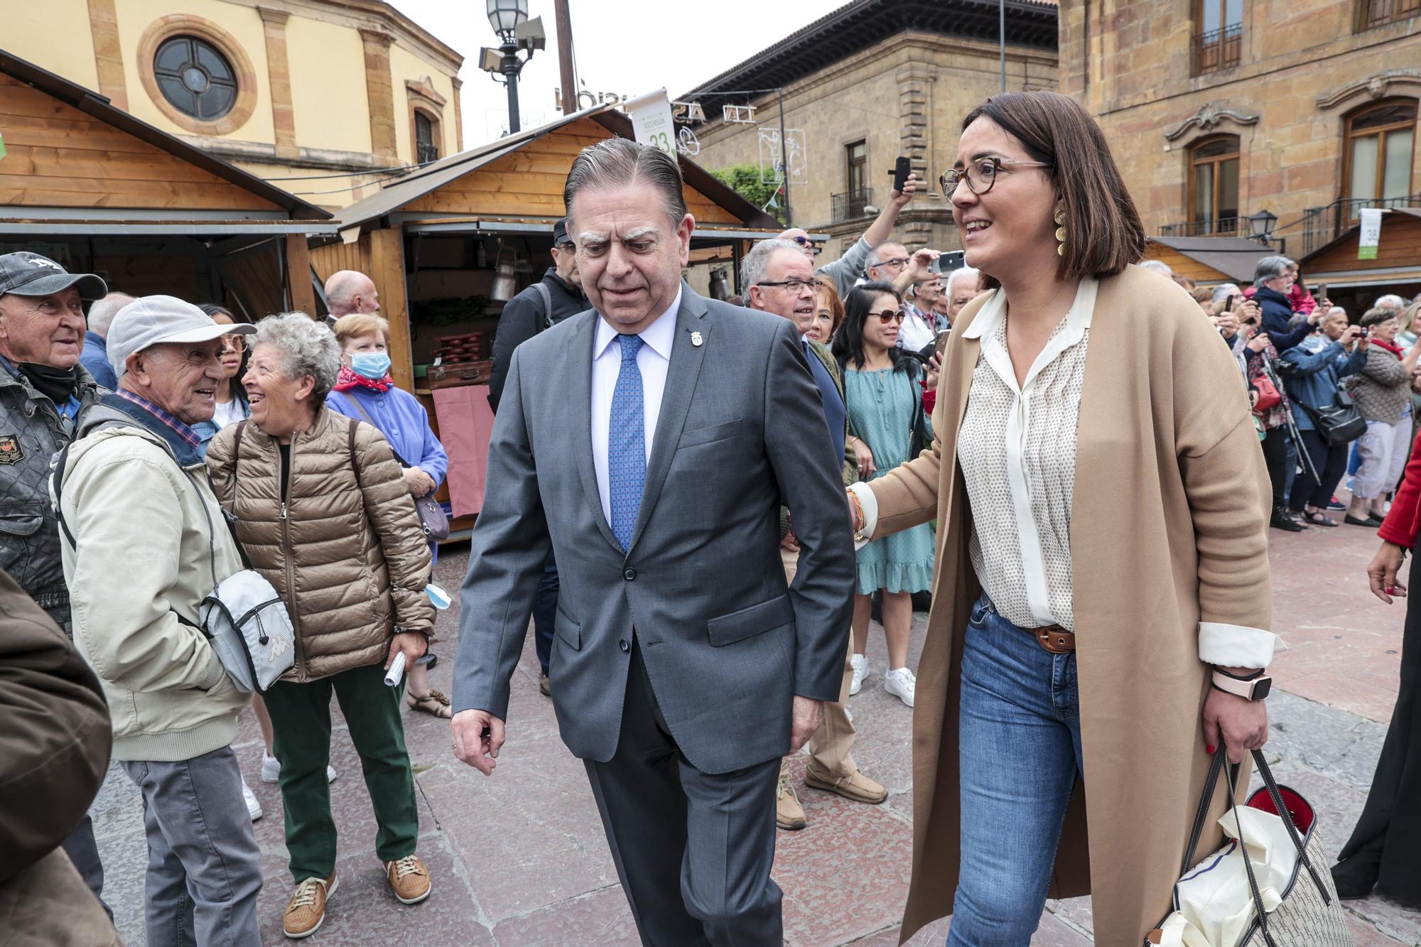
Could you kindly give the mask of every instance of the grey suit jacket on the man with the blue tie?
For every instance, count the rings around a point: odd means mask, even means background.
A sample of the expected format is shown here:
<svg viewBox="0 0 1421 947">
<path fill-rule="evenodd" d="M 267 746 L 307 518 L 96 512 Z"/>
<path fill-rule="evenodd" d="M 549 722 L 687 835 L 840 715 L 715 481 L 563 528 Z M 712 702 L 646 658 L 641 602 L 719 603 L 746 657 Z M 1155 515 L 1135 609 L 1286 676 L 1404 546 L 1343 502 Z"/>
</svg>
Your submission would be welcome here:
<svg viewBox="0 0 1421 947">
<path fill-rule="evenodd" d="M 794 324 L 682 284 L 624 552 L 593 469 L 597 319 L 567 319 L 513 353 L 463 583 L 453 710 L 506 715 L 551 539 L 561 582 L 553 705 L 574 755 L 605 762 L 617 751 L 635 633 L 692 765 L 730 772 L 780 756 L 793 695 L 838 698 L 854 586 L 838 462 Z M 782 502 L 803 547 L 793 587 Z"/>
</svg>

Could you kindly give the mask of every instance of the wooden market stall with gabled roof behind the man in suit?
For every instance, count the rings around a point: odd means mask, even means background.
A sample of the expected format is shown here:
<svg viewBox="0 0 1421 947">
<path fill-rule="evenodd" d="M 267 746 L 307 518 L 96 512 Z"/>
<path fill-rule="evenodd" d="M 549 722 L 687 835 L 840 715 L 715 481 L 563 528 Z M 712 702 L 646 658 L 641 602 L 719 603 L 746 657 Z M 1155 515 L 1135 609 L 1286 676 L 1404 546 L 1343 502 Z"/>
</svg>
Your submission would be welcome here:
<svg viewBox="0 0 1421 947">
<path fill-rule="evenodd" d="M 338 212 L 341 240 L 311 250 L 323 279 L 360 270 L 375 282 L 395 384 L 425 402 L 449 452 L 438 496 L 456 539 L 483 505 L 487 360 L 504 301 L 496 297 L 510 296 L 495 289 L 495 272 L 512 269 L 513 291 L 541 279 L 573 159 L 611 137 L 632 138 L 631 119 L 600 105 L 452 155 Z M 682 158 L 681 169 L 696 220 L 692 284 L 705 286 L 710 267 L 733 273 L 750 243 L 780 225 L 693 162 Z"/>
</svg>

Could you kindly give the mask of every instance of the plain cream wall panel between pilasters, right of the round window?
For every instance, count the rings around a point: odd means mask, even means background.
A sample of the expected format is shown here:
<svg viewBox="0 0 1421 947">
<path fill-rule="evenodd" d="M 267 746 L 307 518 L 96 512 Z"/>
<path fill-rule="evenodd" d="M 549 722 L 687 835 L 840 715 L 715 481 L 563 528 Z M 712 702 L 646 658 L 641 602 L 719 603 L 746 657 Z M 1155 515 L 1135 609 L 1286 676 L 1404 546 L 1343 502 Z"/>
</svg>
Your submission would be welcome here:
<svg viewBox="0 0 1421 947">
<path fill-rule="evenodd" d="M 286 58 L 291 70 L 296 144 L 368 152 L 365 47 L 360 33 L 293 16 L 286 24 Z"/>
</svg>

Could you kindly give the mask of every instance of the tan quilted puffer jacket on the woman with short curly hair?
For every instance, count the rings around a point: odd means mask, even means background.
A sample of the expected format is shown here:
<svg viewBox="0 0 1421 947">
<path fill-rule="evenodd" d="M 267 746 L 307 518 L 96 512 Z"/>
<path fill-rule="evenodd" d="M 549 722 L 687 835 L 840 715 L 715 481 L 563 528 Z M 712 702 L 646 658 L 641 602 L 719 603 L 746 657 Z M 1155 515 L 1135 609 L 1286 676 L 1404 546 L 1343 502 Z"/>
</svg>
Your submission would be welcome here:
<svg viewBox="0 0 1421 947">
<path fill-rule="evenodd" d="M 280 449 L 256 422 L 207 445 L 217 499 L 296 624 L 296 665 L 281 680 L 384 664 L 396 627 L 432 633 L 429 546 L 385 437 L 323 407 L 291 439 L 290 466 L 283 502 Z"/>
</svg>

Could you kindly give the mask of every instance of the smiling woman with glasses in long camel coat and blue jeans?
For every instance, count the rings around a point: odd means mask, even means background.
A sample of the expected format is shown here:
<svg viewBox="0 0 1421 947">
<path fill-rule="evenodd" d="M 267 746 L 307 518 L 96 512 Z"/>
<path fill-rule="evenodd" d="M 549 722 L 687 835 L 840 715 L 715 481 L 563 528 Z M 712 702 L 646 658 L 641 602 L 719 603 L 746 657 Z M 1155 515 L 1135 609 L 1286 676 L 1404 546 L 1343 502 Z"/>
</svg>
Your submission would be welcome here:
<svg viewBox="0 0 1421 947">
<path fill-rule="evenodd" d="M 932 449 L 850 488 L 861 537 L 939 528 L 902 937 L 951 913 L 949 947 L 1025 946 L 1047 892 L 1090 893 L 1096 943 L 1134 947 L 1221 731 L 1235 759 L 1268 735 L 1211 688 L 1276 641 L 1262 451 L 1218 333 L 1128 266 L 1144 230 L 1080 105 L 993 97 L 944 191 L 996 291 L 953 324 Z"/>
</svg>

